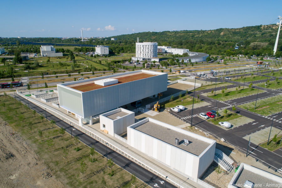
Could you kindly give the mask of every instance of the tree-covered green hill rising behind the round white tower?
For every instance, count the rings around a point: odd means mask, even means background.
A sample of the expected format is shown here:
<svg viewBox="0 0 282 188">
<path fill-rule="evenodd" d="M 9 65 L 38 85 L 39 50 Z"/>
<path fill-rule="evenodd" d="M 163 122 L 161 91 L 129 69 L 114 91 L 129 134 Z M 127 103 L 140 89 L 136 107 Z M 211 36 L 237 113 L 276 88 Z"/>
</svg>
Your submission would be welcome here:
<svg viewBox="0 0 282 188">
<path fill-rule="evenodd" d="M 236 29 L 142 32 L 114 38 L 117 38 L 117 41 L 137 41 L 139 37 L 139 42 L 158 42 L 159 46 L 186 48 L 208 54 L 272 55 L 277 31 L 278 25 L 259 25 Z M 238 50 L 234 49 L 236 43 Z M 282 51 L 282 36 L 279 38 L 277 50 Z"/>
</svg>

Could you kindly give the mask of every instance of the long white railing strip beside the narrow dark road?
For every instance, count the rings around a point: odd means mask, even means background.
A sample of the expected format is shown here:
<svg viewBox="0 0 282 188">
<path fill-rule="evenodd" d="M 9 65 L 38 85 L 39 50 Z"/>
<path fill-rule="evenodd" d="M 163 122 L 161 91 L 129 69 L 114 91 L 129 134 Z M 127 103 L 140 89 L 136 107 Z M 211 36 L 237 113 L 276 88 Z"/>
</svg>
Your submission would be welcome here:
<svg viewBox="0 0 282 188">
<path fill-rule="evenodd" d="M 113 149 L 115 152 L 123 155 L 124 157 L 130 159 L 131 161 L 133 161 L 134 163 L 142 166 L 143 168 L 145 168 L 146 170 L 152 172 L 153 174 L 165 179 L 166 176 L 168 176 L 168 178 L 166 179 L 168 182 L 170 182 L 172 185 L 175 185 L 176 187 L 181 187 L 181 188 L 196 188 L 195 186 L 189 184 L 188 182 L 185 182 L 186 180 L 180 179 L 179 177 L 176 177 L 175 175 L 171 174 L 169 171 L 166 171 L 162 168 L 160 168 L 159 166 L 154 165 L 153 163 L 151 163 L 150 161 L 140 157 L 140 155 L 136 154 L 135 152 L 127 149 L 125 146 L 119 144 L 118 142 L 112 140 L 111 138 L 108 138 L 107 136 L 103 135 L 102 133 L 100 133 L 99 131 L 97 131 L 96 129 L 93 129 L 91 127 L 89 127 L 88 125 L 79 125 L 78 121 L 71 118 L 71 117 L 66 117 L 66 115 L 62 112 L 60 112 L 59 110 L 56 109 L 50 109 L 52 107 L 49 107 L 43 103 L 40 103 L 34 99 L 31 100 L 31 98 L 26 97 L 24 94 L 18 93 L 17 94 L 20 95 L 21 97 L 29 100 L 30 102 L 34 103 L 35 105 L 39 106 L 42 109 L 45 109 L 47 112 L 50 112 L 51 114 L 53 114 L 54 116 L 56 116 L 57 118 L 60 118 L 61 120 L 63 120 L 66 123 L 69 123 L 70 125 L 72 125 L 73 127 L 81 130 L 82 132 L 86 133 L 87 135 L 89 135 L 90 137 L 98 140 L 100 143 L 106 145 L 107 147 Z M 124 139 L 124 138 L 123 138 Z M 161 162 L 160 162 L 161 163 Z M 181 175 L 187 176 L 184 173 L 178 172 Z"/>
</svg>

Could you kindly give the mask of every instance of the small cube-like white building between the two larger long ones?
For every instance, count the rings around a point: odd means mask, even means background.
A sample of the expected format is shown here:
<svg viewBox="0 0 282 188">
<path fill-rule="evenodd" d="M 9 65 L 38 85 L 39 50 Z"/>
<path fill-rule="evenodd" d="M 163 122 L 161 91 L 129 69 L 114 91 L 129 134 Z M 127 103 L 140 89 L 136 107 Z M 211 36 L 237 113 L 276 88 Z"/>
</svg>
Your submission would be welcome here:
<svg viewBox="0 0 282 188">
<path fill-rule="evenodd" d="M 100 115 L 100 129 L 115 136 L 127 132 L 127 127 L 134 124 L 135 113 L 124 108 L 118 108 Z"/>
</svg>

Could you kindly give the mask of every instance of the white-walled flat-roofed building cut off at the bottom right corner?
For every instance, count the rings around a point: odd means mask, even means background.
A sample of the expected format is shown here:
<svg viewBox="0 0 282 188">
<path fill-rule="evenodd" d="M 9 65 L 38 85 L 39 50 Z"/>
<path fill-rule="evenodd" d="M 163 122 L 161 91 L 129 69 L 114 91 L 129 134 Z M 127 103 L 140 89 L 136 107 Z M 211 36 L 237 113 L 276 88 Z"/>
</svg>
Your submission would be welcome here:
<svg viewBox="0 0 282 188">
<path fill-rule="evenodd" d="M 244 184 L 249 181 L 247 186 Z M 282 178 L 270 174 L 264 170 L 241 163 L 237 172 L 228 184 L 228 188 L 245 188 L 245 187 L 282 187 Z"/>
</svg>

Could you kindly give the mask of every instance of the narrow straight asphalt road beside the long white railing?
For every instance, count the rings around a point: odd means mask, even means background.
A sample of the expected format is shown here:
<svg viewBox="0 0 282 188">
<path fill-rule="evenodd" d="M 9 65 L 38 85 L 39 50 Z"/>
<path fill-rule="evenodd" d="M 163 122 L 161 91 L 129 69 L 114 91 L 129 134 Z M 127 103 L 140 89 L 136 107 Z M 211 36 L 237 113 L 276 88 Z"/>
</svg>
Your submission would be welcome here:
<svg viewBox="0 0 282 188">
<path fill-rule="evenodd" d="M 14 96 L 12 96 L 14 97 Z M 16 94 L 16 99 L 24 104 L 28 104 L 27 100 L 20 97 Z M 39 114 L 43 114 L 45 117 L 45 110 L 42 108 L 36 106 L 33 103 L 29 103 L 29 107 L 32 110 L 35 110 Z M 155 184 L 158 185 L 158 187 L 165 188 L 165 180 L 159 178 L 157 175 L 154 175 L 153 173 L 149 172 L 148 170 L 142 168 L 141 166 L 137 165 L 136 163 L 132 162 L 131 160 L 123 157 L 121 154 L 118 154 L 117 152 L 113 151 L 110 148 L 107 148 L 105 145 L 101 144 L 99 141 L 95 140 L 94 138 L 91 138 L 87 134 L 81 132 L 80 130 L 73 128 L 68 123 L 65 123 L 64 121 L 60 120 L 59 118 L 53 116 L 49 112 L 47 114 L 48 120 L 54 120 L 56 122 L 56 125 L 58 127 L 63 127 L 66 129 L 66 132 L 69 134 L 72 134 L 72 136 L 78 136 L 80 141 L 86 144 L 89 147 L 95 147 L 95 150 L 102 154 L 104 157 L 108 157 L 108 159 L 112 159 L 112 161 L 123 168 L 124 170 L 128 171 L 131 174 L 134 174 L 138 179 L 144 181 L 145 185 L 150 185 L 151 187 L 154 187 Z M 95 164 L 94 164 L 95 165 Z M 91 172 L 92 174 L 93 172 Z M 117 185 L 119 186 L 119 185 Z M 140 186 L 140 185 L 139 185 Z M 166 183 L 167 188 L 176 188 L 174 185 L 171 185 L 170 183 Z"/>
</svg>

